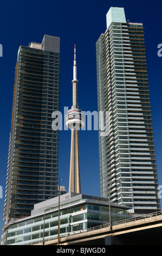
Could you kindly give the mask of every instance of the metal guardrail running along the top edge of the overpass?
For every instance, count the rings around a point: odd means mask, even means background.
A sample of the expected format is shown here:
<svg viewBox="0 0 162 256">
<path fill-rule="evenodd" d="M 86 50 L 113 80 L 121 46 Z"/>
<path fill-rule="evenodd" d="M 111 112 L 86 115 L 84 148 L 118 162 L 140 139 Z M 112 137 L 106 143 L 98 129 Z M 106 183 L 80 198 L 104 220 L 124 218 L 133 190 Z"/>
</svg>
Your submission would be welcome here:
<svg viewBox="0 0 162 256">
<path fill-rule="evenodd" d="M 132 222 L 132 221 L 138 221 L 138 220 L 142 220 L 142 219 L 146 219 L 146 218 L 150 218 L 150 217 L 154 217 L 154 216 L 158 216 L 158 215 L 162 215 L 162 211 L 152 212 L 151 214 L 142 214 L 142 215 L 134 216 L 132 218 L 126 218 L 124 220 L 115 221 L 115 222 L 112 222 L 112 225 L 119 225 L 119 224 L 124 224 L 124 223 Z M 97 229 L 102 229 L 102 228 L 106 228 L 106 227 L 110 227 L 110 223 L 98 225 L 98 226 L 95 226 L 92 228 L 80 229 L 80 230 L 76 230 L 73 232 L 69 232 L 67 234 L 60 235 L 60 238 L 71 236 L 71 235 L 76 235 L 76 234 L 81 234 L 81 233 L 85 233 L 85 232 L 93 231 L 93 230 L 97 230 Z M 58 239 L 58 236 L 51 237 L 50 239 L 45 239 L 44 242 L 55 240 L 55 239 Z M 35 245 L 36 243 L 37 244 L 42 243 L 42 241 L 30 243 L 30 245 Z"/>
</svg>

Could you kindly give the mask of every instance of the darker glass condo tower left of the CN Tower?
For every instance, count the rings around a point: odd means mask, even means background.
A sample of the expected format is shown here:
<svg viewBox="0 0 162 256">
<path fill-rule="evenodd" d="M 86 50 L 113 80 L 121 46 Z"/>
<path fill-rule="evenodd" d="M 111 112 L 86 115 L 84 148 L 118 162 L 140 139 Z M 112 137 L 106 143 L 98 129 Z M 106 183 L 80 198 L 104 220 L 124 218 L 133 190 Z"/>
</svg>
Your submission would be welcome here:
<svg viewBox="0 0 162 256">
<path fill-rule="evenodd" d="M 58 131 L 51 114 L 59 110 L 60 38 L 20 46 L 5 193 L 4 220 L 29 216 L 34 204 L 57 196 Z"/>
</svg>

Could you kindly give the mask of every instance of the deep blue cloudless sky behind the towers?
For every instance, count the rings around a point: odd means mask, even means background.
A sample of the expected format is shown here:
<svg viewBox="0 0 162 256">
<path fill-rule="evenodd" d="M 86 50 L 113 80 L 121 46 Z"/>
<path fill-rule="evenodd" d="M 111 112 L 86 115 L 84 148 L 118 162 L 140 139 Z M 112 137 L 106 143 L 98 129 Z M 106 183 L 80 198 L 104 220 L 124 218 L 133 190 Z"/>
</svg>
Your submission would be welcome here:
<svg viewBox="0 0 162 256">
<path fill-rule="evenodd" d="M 61 38 L 60 111 L 72 106 L 74 44 L 77 53 L 78 101 L 83 111 L 97 111 L 95 43 L 106 31 L 109 8 L 124 7 L 126 20 L 141 22 L 145 28 L 145 46 L 150 85 L 151 109 L 159 185 L 162 185 L 161 157 L 161 70 L 162 57 L 157 55 L 162 44 L 161 1 L 108 0 L 46 0 L 1 1 L 0 58 L 1 84 L 1 144 L 0 234 L 4 225 L 3 209 L 7 174 L 12 97 L 17 51 L 20 45 L 42 42 L 43 35 Z M 70 131 L 60 132 L 59 178 L 68 191 L 70 160 Z M 82 193 L 100 196 L 98 131 L 80 132 L 80 165 Z"/>
</svg>

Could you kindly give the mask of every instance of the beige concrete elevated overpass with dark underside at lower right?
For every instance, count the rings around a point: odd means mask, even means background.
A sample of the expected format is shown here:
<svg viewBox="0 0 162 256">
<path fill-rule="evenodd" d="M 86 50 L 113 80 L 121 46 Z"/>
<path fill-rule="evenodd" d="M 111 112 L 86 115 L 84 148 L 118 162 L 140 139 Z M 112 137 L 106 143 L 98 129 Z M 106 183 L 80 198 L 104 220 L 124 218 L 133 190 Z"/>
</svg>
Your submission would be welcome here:
<svg viewBox="0 0 162 256">
<path fill-rule="evenodd" d="M 45 245 L 57 245 L 57 242 L 56 237 L 46 240 Z M 60 236 L 60 245 L 161 245 L 161 243 L 161 211 L 113 222 L 112 230 L 109 224 L 104 224 Z"/>
</svg>

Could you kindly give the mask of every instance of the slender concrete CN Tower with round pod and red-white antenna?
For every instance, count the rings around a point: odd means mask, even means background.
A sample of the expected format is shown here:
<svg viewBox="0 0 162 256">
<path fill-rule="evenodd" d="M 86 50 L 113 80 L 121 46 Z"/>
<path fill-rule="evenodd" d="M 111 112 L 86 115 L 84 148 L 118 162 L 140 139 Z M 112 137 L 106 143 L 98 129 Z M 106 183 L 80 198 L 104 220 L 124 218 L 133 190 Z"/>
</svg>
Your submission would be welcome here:
<svg viewBox="0 0 162 256">
<path fill-rule="evenodd" d="M 80 181 L 80 157 L 79 157 L 79 129 L 85 125 L 85 118 L 77 103 L 77 66 L 76 48 L 74 46 L 73 66 L 73 106 L 66 115 L 66 126 L 71 130 L 71 153 L 70 153 L 70 175 L 69 192 L 81 193 Z"/>
</svg>

